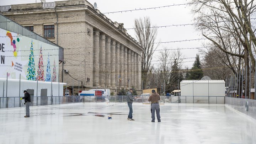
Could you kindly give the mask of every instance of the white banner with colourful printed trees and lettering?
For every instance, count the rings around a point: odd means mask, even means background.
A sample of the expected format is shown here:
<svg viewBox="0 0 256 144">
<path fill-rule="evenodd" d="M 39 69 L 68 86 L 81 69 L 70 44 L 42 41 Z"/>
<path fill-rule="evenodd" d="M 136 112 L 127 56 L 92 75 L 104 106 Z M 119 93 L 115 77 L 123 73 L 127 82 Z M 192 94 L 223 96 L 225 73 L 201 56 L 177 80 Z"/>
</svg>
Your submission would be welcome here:
<svg viewBox="0 0 256 144">
<path fill-rule="evenodd" d="M 58 82 L 59 48 L 0 28 L 0 78 Z"/>
</svg>

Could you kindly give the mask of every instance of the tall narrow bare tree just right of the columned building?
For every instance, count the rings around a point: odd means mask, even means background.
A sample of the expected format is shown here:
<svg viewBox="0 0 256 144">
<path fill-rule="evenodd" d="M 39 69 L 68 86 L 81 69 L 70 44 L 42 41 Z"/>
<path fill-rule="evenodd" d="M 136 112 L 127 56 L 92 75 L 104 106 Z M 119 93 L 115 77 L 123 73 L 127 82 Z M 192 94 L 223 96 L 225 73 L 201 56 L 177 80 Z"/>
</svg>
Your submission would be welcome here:
<svg viewBox="0 0 256 144">
<path fill-rule="evenodd" d="M 152 28 L 149 17 L 139 18 L 134 20 L 134 31 L 136 33 L 136 38 L 142 45 L 144 51 L 142 52 L 142 80 L 143 87 L 148 82 L 148 74 L 151 71 L 151 60 L 155 49 L 159 44 L 155 45 L 157 28 Z"/>
</svg>

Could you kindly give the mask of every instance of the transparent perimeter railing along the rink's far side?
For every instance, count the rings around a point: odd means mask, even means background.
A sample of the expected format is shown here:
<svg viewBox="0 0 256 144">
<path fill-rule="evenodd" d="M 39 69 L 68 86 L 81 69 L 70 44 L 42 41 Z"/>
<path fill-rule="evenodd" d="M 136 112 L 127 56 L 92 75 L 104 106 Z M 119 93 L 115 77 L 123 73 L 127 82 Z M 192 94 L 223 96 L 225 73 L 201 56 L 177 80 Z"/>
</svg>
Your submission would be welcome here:
<svg viewBox="0 0 256 144">
<path fill-rule="evenodd" d="M 31 106 L 60 105 L 79 102 L 127 102 L 127 96 L 31 96 Z M 209 103 L 224 104 L 225 98 L 220 96 L 160 96 L 159 103 Z M 134 99 L 136 103 L 149 103 L 149 96 L 140 96 Z M 23 107 L 24 100 L 20 97 L 0 97 L 0 108 Z"/>
</svg>

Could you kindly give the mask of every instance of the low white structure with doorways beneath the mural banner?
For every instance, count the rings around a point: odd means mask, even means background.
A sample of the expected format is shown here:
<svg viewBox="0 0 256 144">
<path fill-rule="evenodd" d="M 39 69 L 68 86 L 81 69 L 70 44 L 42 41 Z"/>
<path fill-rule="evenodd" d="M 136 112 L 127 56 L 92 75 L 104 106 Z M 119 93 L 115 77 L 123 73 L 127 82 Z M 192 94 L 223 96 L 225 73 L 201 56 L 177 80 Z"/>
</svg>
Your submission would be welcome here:
<svg viewBox="0 0 256 144">
<path fill-rule="evenodd" d="M 7 85 L 7 87 L 6 87 Z M 27 90 L 31 96 L 63 96 L 62 82 L 32 81 L 0 78 L 0 97 L 23 97 Z M 7 89 L 7 95 L 6 95 Z M 51 92 L 52 91 L 52 92 Z"/>
</svg>

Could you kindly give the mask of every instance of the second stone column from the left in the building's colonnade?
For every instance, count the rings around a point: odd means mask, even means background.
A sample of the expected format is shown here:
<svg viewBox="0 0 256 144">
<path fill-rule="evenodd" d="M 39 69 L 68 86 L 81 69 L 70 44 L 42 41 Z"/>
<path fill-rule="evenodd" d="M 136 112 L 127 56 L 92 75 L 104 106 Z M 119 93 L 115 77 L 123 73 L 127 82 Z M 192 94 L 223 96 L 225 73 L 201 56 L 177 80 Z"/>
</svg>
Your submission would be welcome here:
<svg viewBox="0 0 256 144">
<path fill-rule="evenodd" d="M 105 86 L 105 34 L 100 34 L 100 86 Z"/>
</svg>

